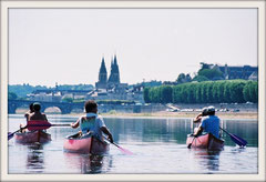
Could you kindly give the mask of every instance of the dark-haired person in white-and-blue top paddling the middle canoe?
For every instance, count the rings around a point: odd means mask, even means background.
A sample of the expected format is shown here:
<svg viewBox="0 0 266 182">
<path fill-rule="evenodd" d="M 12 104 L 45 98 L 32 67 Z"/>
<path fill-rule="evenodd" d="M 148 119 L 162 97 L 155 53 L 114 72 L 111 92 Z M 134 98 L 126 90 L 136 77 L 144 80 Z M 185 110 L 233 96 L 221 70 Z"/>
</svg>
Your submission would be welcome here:
<svg viewBox="0 0 266 182">
<path fill-rule="evenodd" d="M 80 127 L 81 134 L 91 132 L 94 136 L 102 140 L 103 134 L 108 135 L 108 140 L 113 143 L 113 136 L 106 128 L 103 118 L 98 114 L 98 104 L 93 100 L 85 102 L 85 114 L 81 115 L 74 123 L 71 123 L 73 129 Z"/>
</svg>

